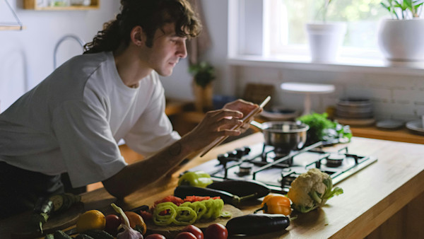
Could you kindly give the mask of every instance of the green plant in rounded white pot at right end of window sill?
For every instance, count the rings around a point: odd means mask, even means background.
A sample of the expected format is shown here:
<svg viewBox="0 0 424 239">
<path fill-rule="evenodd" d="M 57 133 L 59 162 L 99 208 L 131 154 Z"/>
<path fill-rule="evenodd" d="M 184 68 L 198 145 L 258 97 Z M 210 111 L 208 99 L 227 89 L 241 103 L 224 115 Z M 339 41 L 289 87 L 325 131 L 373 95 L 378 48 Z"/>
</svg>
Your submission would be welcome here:
<svg viewBox="0 0 424 239">
<path fill-rule="evenodd" d="M 382 6 L 391 18 L 380 22 L 378 45 L 384 57 L 392 62 L 424 61 L 424 0 L 384 0 Z"/>
</svg>

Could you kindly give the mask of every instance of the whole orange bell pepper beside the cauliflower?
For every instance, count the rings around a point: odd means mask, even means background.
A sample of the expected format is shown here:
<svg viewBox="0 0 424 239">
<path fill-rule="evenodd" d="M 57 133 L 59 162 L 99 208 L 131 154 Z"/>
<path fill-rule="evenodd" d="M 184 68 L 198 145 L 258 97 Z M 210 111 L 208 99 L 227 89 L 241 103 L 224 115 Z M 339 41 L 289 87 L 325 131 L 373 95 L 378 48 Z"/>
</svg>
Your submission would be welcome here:
<svg viewBox="0 0 424 239">
<path fill-rule="evenodd" d="M 269 194 L 262 200 L 261 208 L 254 211 L 263 210 L 265 214 L 291 214 L 290 199 L 281 194 Z"/>
</svg>

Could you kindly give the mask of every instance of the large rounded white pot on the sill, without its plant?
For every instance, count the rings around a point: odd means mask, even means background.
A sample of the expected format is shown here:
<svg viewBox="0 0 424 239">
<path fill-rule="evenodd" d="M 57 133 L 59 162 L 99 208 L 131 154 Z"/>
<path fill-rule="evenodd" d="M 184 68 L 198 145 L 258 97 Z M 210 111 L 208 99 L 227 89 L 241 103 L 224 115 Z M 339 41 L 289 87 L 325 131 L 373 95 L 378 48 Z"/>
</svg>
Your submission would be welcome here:
<svg viewBox="0 0 424 239">
<path fill-rule="evenodd" d="M 377 39 L 383 56 L 391 61 L 424 61 L 424 19 L 384 19 Z"/>
</svg>

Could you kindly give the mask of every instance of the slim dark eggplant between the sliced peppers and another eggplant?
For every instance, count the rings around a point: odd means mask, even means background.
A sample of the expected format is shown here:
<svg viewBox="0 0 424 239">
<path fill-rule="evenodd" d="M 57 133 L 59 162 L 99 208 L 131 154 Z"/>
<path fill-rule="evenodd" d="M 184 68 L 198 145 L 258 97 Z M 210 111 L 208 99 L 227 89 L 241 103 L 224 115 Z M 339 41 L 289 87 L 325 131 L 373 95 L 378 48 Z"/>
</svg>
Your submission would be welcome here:
<svg viewBox="0 0 424 239">
<path fill-rule="evenodd" d="M 187 196 L 201 196 L 201 197 L 220 197 L 225 204 L 237 205 L 240 204 L 242 198 L 237 195 L 230 194 L 221 190 L 213 190 L 206 187 L 193 187 L 187 185 L 180 185 L 175 187 L 174 196 L 184 199 Z"/>
</svg>

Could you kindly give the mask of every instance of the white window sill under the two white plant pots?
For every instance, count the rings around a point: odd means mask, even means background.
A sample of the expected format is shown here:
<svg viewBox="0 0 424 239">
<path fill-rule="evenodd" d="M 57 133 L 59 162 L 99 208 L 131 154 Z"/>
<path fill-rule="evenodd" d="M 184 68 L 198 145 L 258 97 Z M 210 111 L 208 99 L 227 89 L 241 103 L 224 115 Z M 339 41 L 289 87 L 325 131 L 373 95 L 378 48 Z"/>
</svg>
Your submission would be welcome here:
<svg viewBox="0 0 424 239">
<path fill-rule="evenodd" d="M 300 69 L 310 71 L 353 71 L 375 74 L 396 74 L 423 76 L 424 62 L 388 62 L 384 59 L 339 58 L 334 63 L 311 62 L 309 57 L 293 55 L 284 57 L 263 57 L 237 55 L 228 57 L 232 66 L 260 66 L 281 69 Z"/>
</svg>

